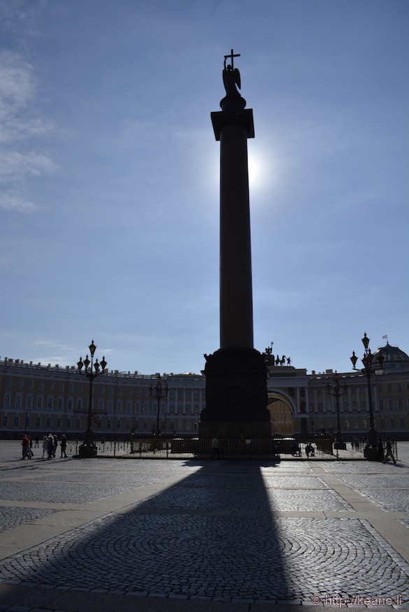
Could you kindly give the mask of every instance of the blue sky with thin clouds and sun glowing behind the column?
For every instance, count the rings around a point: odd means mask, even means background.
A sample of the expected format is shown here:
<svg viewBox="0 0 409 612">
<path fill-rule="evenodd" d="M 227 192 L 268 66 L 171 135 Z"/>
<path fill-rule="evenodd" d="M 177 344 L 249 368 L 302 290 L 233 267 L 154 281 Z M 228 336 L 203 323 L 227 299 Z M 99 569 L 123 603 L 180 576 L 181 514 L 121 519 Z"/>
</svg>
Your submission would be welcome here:
<svg viewBox="0 0 409 612">
<path fill-rule="evenodd" d="M 0 356 L 199 373 L 240 57 L 254 346 L 409 353 L 407 0 L 0 0 Z M 387 336 L 385 339 L 384 336 Z M 273 343 L 273 345 L 271 345 Z"/>
</svg>

